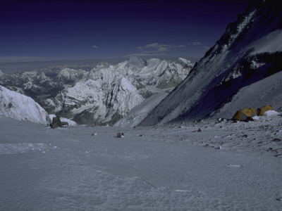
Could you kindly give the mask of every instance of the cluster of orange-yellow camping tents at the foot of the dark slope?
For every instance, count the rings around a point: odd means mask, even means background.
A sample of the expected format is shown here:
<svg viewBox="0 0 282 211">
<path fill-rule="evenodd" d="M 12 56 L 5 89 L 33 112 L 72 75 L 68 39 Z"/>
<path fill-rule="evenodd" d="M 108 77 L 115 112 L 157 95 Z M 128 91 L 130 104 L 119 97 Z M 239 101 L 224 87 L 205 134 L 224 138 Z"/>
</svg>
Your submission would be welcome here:
<svg viewBox="0 0 282 211">
<path fill-rule="evenodd" d="M 252 121 L 252 117 L 255 116 L 262 116 L 264 115 L 264 112 L 267 110 L 273 110 L 271 106 L 263 106 L 260 108 L 243 108 L 241 110 L 238 110 L 235 115 L 232 117 L 232 120 L 237 121 Z"/>
</svg>

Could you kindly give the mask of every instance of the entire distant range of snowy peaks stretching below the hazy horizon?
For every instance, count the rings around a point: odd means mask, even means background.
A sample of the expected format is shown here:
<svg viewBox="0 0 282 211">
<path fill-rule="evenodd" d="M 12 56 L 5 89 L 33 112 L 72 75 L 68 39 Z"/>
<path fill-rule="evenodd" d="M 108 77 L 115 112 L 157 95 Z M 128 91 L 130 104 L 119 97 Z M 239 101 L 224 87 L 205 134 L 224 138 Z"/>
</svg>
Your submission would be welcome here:
<svg viewBox="0 0 282 211">
<path fill-rule="evenodd" d="M 48 113 L 78 124 L 114 124 L 159 91 L 170 91 L 194 64 L 131 57 L 123 63 L 102 63 L 91 70 L 53 68 L 0 73 L 0 84 L 35 99 Z"/>
</svg>

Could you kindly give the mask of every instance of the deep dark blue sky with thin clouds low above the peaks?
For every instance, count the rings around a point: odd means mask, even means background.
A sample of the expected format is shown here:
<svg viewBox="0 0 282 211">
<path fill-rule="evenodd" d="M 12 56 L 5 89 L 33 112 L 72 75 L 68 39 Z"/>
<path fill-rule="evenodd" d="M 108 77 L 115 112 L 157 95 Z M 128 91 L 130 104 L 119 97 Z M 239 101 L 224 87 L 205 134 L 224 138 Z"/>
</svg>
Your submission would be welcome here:
<svg viewBox="0 0 282 211">
<path fill-rule="evenodd" d="M 248 1 L 7 1 L 0 62 L 200 58 Z"/>
</svg>

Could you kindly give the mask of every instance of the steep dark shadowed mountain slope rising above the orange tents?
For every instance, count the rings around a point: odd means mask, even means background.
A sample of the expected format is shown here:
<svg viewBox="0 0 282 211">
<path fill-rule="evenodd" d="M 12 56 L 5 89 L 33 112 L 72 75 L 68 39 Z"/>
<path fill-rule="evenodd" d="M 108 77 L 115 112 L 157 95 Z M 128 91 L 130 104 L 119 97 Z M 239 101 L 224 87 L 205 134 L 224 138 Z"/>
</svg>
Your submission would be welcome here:
<svg viewBox="0 0 282 211">
<path fill-rule="evenodd" d="M 208 117 L 232 101 L 241 88 L 281 71 L 281 20 L 282 8 L 278 1 L 250 1 L 250 6 L 238 15 L 235 23 L 226 27 L 221 39 L 195 64 L 188 77 L 141 125 Z M 281 93 L 279 87 L 274 89 Z M 257 94 L 264 95 L 265 90 L 261 91 Z M 249 98 L 252 101 L 254 96 L 249 94 Z M 252 106 L 264 105 L 257 101 Z M 240 107 L 249 107 L 249 104 Z"/>
</svg>

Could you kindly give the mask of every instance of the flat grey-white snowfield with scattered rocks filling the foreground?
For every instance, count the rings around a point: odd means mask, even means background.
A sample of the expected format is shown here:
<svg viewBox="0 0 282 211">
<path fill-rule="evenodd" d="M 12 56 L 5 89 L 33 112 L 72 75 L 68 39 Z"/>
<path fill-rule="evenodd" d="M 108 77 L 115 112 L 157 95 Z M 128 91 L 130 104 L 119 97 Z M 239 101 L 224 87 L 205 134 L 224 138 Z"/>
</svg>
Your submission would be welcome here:
<svg viewBox="0 0 282 211">
<path fill-rule="evenodd" d="M 281 210 L 281 120 L 50 129 L 0 116 L 0 210 Z"/>
</svg>

